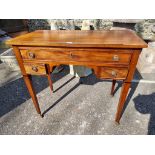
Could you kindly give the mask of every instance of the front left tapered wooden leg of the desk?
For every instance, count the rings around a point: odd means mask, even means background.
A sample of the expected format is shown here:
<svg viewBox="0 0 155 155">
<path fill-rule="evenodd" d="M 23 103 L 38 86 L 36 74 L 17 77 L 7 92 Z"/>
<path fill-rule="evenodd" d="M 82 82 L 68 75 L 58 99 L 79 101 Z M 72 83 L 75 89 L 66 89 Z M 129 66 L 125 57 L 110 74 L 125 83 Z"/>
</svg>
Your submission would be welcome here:
<svg viewBox="0 0 155 155">
<path fill-rule="evenodd" d="M 32 98 L 33 104 L 34 104 L 34 106 L 36 108 L 36 111 L 37 111 L 38 114 L 41 115 L 41 111 L 40 111 L 40 107 L 39 107 L 39 104 L 38 104 L 37 96 L 36 96 L 36 93 L 35 93 L 35 91 L 33 89 L 30 75 L 23 75 L 23 78 L 24 78 L 25 84 L 27 86 L 27 89 L 28 89 L 28 91 L 30 93 L 30 96 Z"/>
</svg>

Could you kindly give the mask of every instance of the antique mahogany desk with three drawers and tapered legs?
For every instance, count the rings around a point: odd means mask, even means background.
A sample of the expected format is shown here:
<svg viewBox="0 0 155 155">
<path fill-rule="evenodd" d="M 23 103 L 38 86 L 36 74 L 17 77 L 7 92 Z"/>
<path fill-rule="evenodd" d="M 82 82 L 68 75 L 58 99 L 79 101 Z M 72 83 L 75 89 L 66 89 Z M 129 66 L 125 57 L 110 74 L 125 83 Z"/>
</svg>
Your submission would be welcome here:
<svg viewBox="0 0 155 155">
<path fill-rule="evenodd" d="M 92 68 L 98 78 L 112 79 L 111 94 L 116 80 L 123 80 L 116 122 L 120 121 L 141 49 L 147 47 L 131 30 L 38 30 L 11 39 L 7 44 L 13 47 L 25 84 L 40 115 L 31 75 L 46 75 L 53 90 L 50 73 L 54 66 L 84 65 Z"/>
</svg>

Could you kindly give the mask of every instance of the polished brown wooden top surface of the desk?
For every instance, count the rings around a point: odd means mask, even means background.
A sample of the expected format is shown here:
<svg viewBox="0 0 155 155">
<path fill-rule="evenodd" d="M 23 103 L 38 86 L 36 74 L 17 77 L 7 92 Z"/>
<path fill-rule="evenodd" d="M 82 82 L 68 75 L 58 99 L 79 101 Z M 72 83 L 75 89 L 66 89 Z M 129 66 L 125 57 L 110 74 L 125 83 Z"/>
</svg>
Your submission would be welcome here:
<svg viewBox="0 0 155 155">
<path fill-rule="evenodd" d="M 18 46 L 145 48 L 132 30 L 37 30 L 6 42 Z"/>
</svg>

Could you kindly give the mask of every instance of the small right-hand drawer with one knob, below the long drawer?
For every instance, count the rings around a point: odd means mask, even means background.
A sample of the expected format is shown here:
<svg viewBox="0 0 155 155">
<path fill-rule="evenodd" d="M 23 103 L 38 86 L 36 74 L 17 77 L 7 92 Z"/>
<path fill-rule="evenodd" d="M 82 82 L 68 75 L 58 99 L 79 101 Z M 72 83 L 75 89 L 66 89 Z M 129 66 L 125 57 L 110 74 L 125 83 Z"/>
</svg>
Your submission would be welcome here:
<svg viewBox="0 0 155 155">
<path fill-rule="evenodd" d="M 99 68 L 99 77 L 107 79 L 125 79 L 128 74 L 127 68 L 111 68 L 101 67 Z"/>
</svg>

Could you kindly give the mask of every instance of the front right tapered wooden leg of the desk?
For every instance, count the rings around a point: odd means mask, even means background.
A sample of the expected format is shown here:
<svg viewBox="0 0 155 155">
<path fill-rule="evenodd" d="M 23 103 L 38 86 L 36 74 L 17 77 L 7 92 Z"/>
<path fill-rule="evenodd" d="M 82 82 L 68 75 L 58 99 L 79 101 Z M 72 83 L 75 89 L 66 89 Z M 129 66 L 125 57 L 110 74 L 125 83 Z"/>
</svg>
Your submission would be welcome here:
<svg viewBox="0 0 155 155">
<path fill-rule="evenodd" d="M 124 82 L 123 83 L 121 95 L 120 95 L 119 103 L 118 103 L 118 107 L 117 107 L 117 113 L 116 113 L 116 117 L 115 117 L 115 121 L 117 123 L 119 123 L 119 121 L 120 121 L 120 118 L 122 115 L 122 110 L 123 110 L 123 107 L 125 104 L 126 97 L 128 95 L 130 85 L 131 85 L 131 82 Z"/>
</svg>

